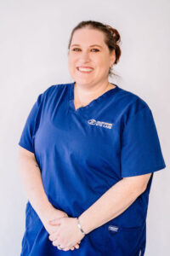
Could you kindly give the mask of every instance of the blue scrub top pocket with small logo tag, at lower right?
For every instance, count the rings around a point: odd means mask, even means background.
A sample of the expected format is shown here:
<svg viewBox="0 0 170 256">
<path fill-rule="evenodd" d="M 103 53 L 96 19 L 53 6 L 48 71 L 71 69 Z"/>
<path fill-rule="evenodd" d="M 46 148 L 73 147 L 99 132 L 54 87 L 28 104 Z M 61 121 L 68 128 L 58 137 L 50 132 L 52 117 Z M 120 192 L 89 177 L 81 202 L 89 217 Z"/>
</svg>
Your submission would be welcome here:
<svg viewBox="0 0 170 256">
<path fill-rule="evenodd" d="M 139 227 L 122 227 L 114 223 L 105 225 L 106 255 L 143 256 L 145 224 Z"/>
</svg>

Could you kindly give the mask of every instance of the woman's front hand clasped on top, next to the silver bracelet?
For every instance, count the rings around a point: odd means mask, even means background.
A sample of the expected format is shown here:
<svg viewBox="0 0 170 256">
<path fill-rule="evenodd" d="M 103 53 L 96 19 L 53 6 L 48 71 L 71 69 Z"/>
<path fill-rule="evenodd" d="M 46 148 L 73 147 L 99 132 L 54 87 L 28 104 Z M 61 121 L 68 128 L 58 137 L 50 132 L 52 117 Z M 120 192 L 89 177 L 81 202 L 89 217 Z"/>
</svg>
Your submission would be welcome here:
<svg viewBox="0 0 170 256">
<path fill-rule="evenodd" d="M 56 247 L 61 247 L 61 250 L 68 251 L 70 247 L 75 246 L 85 236 L 77 226 L 77 218 L 57 218 L 49 221 L 51 225 L 58 225 L 57 232 L 48 236 Z"/>
</svg>

